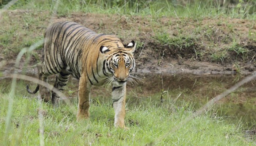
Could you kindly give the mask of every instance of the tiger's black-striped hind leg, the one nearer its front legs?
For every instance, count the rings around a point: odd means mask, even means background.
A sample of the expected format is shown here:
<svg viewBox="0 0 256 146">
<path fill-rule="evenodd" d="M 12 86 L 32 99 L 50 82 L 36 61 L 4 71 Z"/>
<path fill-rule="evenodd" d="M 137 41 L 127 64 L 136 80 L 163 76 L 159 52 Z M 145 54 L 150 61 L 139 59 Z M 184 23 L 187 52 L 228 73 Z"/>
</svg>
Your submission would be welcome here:
<svg viewBox="0 0 256 146">
<path fill-rule="evenodd" d="M 62 69 L 60 73 L 56 74 L 56 80 L 54 87 L 59 89 L 60 92 L 64 90 L 65 85 L 67 85 L 68 79 L 69 79 L 69 73 Z M 52 104 L 57 105 L 59 103 L 59 98 L 55 92 L 52 91 Z"/>
</svg>

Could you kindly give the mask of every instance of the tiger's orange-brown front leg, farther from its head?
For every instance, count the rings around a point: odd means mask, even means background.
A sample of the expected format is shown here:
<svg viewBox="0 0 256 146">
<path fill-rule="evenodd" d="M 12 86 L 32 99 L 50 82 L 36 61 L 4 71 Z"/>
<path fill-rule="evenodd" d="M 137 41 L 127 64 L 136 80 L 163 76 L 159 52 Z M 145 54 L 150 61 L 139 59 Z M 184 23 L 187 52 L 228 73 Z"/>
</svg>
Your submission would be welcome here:
<svg viewBox="0 0 256 146">
<path fill-rule="evenodd" d="M 90 107 L 90 85 L 87 84 L 85 76 L 82 75 L 79 80 L 79 93 L 78 93 L 78 113 L 76 120 L 89 118 Z"/>
</svg>

